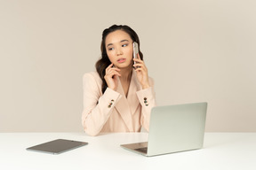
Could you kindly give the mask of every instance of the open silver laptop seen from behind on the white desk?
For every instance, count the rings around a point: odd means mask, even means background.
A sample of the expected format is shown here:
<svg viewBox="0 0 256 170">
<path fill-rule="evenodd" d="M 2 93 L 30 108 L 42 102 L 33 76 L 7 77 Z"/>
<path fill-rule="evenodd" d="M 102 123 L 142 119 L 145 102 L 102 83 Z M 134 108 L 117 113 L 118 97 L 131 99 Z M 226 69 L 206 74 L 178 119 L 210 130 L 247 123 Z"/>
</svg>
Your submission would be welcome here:
<svg viewBox="0 0 256 170">
<path fill-rule="evenodd" d="M 201 149 L 207 103 L 156 106 L 151 110 L 148 142 L 121 147 L 145 156 Z"/>
</svg>

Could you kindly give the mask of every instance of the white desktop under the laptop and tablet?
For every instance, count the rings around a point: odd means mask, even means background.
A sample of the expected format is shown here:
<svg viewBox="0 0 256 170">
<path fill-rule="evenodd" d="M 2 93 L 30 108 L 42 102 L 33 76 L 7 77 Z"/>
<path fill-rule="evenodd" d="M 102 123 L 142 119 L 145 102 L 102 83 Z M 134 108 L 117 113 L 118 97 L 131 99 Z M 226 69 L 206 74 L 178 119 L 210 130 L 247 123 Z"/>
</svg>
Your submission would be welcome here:
<svg viewBox="0 0 256 170">
<path fill-rule="evenodd" d="M 57 138 L 88 142 L 73 151 L 51 155 L 26 148 Z M 2 170 L 255 170 L 256 133 L 206 133 L 204 149 L 144 157 L 120 147 L 147 141 L 147 133 L 88 136 L 84 133 L 1 133 Z"/>
</svg>

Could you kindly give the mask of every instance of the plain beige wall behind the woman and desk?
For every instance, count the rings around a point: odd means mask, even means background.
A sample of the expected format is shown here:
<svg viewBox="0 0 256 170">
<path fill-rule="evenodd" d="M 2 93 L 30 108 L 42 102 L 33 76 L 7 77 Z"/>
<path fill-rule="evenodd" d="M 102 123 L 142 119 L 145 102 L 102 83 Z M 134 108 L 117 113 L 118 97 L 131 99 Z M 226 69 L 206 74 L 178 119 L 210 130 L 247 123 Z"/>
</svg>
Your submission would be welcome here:
<svg viewBox="0 0 256 170">
<path fill-rule="evenodd" d="M 159 105 L 206 101 L 206 131 L 256 132 L 252 0 L 0 0 L 0 132 L 81 126 L 104 28 L 140 35 Z"/>
</svg>

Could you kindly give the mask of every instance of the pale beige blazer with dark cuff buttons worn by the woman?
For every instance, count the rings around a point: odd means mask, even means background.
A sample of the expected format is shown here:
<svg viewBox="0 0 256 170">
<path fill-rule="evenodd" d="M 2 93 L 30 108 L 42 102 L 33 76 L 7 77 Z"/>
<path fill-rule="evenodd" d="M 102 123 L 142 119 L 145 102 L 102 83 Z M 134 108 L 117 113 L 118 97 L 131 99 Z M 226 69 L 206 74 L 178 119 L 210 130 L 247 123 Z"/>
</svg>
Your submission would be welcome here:
<svg viewBox="0 0 256 170">
<path fill-rule="evenodd" d="M 140 132 L 141 127 L 148 130 L 150 111 L 156 106 L 153 79 L 149 78 L 149 89 L 142 89 L 136 72 L 132 71 L 127 98 L 120 81 L 116 91 L 107 88 L 104 94 L 101 83 L 97 72 L 84 74 L 84 131 L 88 135 L 98 135 L 104 132 Z"/>
</svg>

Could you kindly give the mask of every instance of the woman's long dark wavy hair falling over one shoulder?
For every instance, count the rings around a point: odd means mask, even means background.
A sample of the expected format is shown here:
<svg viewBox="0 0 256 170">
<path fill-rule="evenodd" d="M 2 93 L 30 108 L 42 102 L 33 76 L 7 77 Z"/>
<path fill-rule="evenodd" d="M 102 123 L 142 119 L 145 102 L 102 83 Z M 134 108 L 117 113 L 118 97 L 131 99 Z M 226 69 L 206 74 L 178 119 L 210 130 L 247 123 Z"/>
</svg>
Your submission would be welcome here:
<svg viewBox="0 0 256 170">
<path fill-rule="evenodd" d="M 105 76 L 106 68 L 111 64 L 111 62 L 108 58 L 107 50 L 106 50 L 106 37 L 109 33 L 112 33 L 116 30 L 122 30 L 122 31 L 126 32 L 128 35 L 131 36 L 133 42 L 138 43 L 140 59 L 143 60 L 143 54 L 140 51 L 139 36 L 137 35 L 137 33 L 131 27 L 128 27 L 128 26 L 125 26 L 125 25 L 118 25 L 118 26 L 113 25 L 111 27 L 106 28 L 102 33 L 102 40 L 101 40 L 101 45 L 100 45 L 101 57 L 95 64 L 96 70 L 100 75 L 100 79 L 102 80 L 102 87 L 101 87 L 102 94 L 108 88 L 108 85 L 107 85 L 107 82 L 104 79 L 104 76 Z"/>
</svg>

